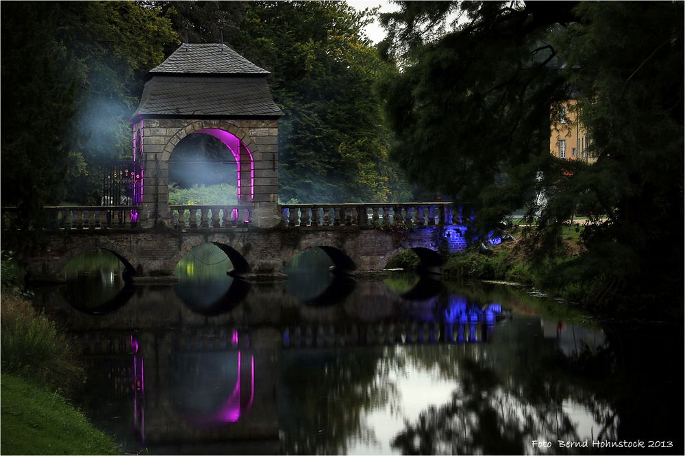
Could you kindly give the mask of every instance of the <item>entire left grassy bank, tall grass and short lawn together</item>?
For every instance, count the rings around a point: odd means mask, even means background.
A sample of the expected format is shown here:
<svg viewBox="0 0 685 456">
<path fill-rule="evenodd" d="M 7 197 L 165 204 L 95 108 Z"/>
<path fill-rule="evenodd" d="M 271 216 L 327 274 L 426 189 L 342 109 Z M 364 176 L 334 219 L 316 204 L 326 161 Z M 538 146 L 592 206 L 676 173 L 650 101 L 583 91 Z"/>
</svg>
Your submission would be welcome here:
<svg viewBox="0 0 685 456">
<path fill-rule="evenodd" d="M 64 399 L 84 375 L 69 338 L 28 301 L 5 290 L 0 299 L 0 453 L 119 453 Z"/>
</svg>

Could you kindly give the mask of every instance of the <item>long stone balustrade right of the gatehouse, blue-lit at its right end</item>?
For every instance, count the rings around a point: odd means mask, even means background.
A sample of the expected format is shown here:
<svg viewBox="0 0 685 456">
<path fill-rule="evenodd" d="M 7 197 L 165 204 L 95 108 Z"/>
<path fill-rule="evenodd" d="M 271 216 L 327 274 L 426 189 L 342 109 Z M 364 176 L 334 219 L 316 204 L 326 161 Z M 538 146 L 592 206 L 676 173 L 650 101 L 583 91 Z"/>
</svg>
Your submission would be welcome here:
<svg viewBox="0 0 685 456">
<path fill-rule="evenodd" d="M 411 224 L 449 225 L 451 203 L 340 203 L 281 205 L 282 222 L 288 227 Z"/>
</svg>

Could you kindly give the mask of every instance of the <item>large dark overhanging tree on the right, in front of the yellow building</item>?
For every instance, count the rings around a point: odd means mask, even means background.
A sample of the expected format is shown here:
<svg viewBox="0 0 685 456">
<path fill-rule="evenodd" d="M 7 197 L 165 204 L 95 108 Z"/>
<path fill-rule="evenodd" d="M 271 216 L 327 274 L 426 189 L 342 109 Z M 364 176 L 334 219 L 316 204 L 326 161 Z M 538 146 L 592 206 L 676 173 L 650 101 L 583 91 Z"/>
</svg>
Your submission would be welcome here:
<svg viewBox="0 0 685 456">
<path fill-rule="evenodd" d="M 588 301 L 682 303 L 683 4 L 399 3 L 383 18 L 386 58 L 403 66 L 382 88 L 391 157 L 477 203 L 482 229 L 526 207 L 540 262 L 558 255 L 561 225 L 582 207 L 587 251 L 557 277 Z M 465 22 L 442 29 L 457 10 Z M 591 166 L 549 153 L 550 107 L 554 118 L 571 98 L 594 138 Z M 654 246 L 667 239 L 677 242 L 661 257 Z"/>
</svg>

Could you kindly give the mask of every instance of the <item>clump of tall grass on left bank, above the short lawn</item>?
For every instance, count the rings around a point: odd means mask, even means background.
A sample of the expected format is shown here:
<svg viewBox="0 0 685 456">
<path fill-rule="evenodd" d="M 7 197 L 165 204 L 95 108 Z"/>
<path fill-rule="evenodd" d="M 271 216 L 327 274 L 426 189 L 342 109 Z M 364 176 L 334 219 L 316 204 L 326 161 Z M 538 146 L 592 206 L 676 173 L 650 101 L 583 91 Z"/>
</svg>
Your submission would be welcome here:
<svg viewBox="0 0 685 456">
<path fill-rule="evenodd" d="M 21 297 L 3 295 L 0 309 L 3 372 L 65 393 L 73 390 L 84 371 L 66 335 Z"/>
</svg>

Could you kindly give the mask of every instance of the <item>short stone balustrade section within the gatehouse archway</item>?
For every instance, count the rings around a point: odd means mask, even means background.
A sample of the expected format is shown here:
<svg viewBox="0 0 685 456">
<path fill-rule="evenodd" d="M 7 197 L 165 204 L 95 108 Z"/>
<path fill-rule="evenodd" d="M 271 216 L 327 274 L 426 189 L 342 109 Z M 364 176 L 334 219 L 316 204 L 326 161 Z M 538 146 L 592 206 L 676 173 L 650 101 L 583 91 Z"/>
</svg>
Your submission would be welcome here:
<svg viewBox="0 0 685 456">
<path fill-rule="evenodd" d="M 171 226 L 234 228 L 250 223 L 251 205 L 170 205 Z"/>
</svg>

